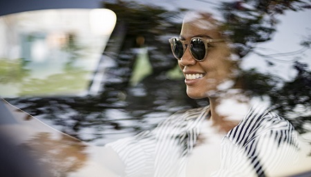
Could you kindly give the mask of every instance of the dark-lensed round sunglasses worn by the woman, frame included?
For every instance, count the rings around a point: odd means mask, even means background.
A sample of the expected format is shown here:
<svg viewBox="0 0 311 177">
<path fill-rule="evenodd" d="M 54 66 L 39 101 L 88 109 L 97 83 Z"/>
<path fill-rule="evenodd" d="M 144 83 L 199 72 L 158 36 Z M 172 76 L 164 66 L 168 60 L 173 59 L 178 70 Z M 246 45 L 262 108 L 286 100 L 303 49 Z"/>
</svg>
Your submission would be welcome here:
<svg viewBox="0 0 311 177">
<path fill-rule="evenodd" d="M 209 44 L 209 42 L 218 41 L 225 41 L 225 39 L 205 39 L 202 37 L 193 37 L 190 41 L 181 41 L 178 37 L 172 37 L 169 39 L 171 51 L 176 59 L 181 59 L 187 49 L 187 46 L 190 45 L 189 51 L 191 56 L 198 62 L 203 61 L 207 56 L 207 44 Z"/>
</svg>

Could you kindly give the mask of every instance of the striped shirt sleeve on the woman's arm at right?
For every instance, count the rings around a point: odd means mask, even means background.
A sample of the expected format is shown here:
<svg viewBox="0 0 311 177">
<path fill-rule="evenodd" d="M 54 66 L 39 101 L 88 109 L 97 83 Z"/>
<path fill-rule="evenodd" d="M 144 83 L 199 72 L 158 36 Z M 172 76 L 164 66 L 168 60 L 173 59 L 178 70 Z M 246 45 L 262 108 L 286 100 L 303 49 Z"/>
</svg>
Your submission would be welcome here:
<svg viewBox="0 0 311 177">
<path fill-rule="evenodd" d="M 288 120 L 275 113 L 267 113 L 265 120 L 263 129 L 247 143 L 245 152 L 252 159 L 257 174 L 286 175 L 289 172 L 286 169 L 292 169 L 298 162 L 300 145 L 297 133 Z"/>
</svg>

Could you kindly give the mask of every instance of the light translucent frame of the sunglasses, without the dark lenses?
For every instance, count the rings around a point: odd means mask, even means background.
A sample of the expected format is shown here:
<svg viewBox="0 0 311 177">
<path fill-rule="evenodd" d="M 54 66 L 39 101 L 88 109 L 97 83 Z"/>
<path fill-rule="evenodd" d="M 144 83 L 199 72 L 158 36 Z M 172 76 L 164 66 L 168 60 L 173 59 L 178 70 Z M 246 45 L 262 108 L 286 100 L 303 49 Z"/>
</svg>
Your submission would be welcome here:
<svg viewBox="0 0 311 177">
<path fill-rule="evenodd" d="M 182 49 L 183 49 L 183 51 L 182 51 L 182 56 L 185 54 L 185 52 L 186 52 L 186 50 L 187 50 L 187 47 L 188 47 L 188 46 L 191 46 L 191 41 L 193 41 L 194 39 L 200 39 L 200 40 L 202 40 L 202 41 L 203 41 L 203 44 L 204 44 L 204 46 L 205 46 L 205 55 L 204 55 L 203 59 L 196 59 L 196 57 L 194 57 L 194 55 L 192 54 L 191 48 L 189 48 L 189 52 L 190 52 L 191 56 L 192 56 L 196 61 L 198 61 L 198 62 L 202 62 L 202 61 L 205 60 L 205 58 L 206 58 L 206 56 L 207 56 L 207 50 L 208 50 L 208 45 L 207 45 L 207 44 L 209 44 L 210 42 L 225 41 L 225 39 L 206 39 L 206 38 L 202 38 L 202 37 L 192 37 L 190 40 L 185 40 L 185 41 L 184 41 L 184 40 L 180 40 L 178 37 L 171 37 L 171 39 L 169 39 L 169 44 L 171 44 L 171 52 L 173 53 L 174 57 L 175 57 L 176 59 L 178 59 L 178 60 L 180 60 L 181 57 L 178 58 L 178 57 L 175 55 L 174 51 L 173 51 L 173 39 L 177 39 L 178 41 L 181 42 L 181 44 L 182 44 Z"/>
</svg>

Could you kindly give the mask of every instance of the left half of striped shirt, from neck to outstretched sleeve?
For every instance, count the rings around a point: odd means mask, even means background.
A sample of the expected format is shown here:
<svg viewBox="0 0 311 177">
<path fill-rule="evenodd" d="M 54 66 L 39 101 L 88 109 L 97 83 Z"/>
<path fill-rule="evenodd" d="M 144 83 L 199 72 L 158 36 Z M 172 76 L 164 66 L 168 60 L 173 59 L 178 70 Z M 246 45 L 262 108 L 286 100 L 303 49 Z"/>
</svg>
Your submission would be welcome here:
<svg viewBox="0 0 311 177">
<path fill-rule="evenodd" d="M 205 118 L 205 112 L 201 113 L 200 109 L 178 111 L 152 131 L 117 140 L 106 147 L 111 147 L 120 157 L 124 176 L 173 176 L 185 164 L 183 156 L 194 144 L 189 141 L 189 130 L 191 138 L 196 137 L 192 130 Z M 202 116 L 198 118 L 198 115 Z"/>
</svg>

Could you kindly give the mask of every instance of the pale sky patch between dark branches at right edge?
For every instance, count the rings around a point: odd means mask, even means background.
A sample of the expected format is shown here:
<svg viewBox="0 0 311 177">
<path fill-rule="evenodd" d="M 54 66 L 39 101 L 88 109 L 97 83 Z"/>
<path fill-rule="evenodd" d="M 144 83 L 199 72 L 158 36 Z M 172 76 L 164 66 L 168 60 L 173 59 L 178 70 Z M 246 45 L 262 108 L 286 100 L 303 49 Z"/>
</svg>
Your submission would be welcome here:
<svg viewBox="0 0 311 177">
<path fill-rule="evenodd" d="M 274 55 L 279 53 L 291 53 L 302 48 L 301 41 L 308 37 L 311 40 L 311 10 L 303 12 L 288 11 L 285 15 L 279 16 L 280 23 L 276 26 L 276 32 L 271 41 L 258 44 L 257 48 L 265 48 L 262 50 L 265 55 Z M 308 22 L 307 22 L 308 21 Z M 311 71 L 311 49 L 297 55 L 274 55 L 274 59 L 270 59 L 274 66 L 267 66 L 265 58 L 258 55 L 248 55 L 243 61 L 244 68 L 257 68 L 261 72 L 274 73 L 284 80 L 291 80 L 296 71 L 292 68 L 294 61 L 308 64 Z"/>
</svg>

